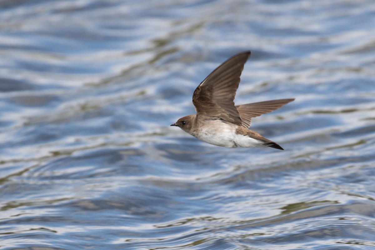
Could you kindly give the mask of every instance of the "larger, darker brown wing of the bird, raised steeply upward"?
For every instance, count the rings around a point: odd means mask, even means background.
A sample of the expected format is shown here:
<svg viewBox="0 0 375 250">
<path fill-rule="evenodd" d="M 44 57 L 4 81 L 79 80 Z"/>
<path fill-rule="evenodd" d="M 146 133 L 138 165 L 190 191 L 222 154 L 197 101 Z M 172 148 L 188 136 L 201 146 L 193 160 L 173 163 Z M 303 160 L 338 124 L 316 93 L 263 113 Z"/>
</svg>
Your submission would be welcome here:
<svg viewBox="0 0 375 250">
<path fill-rule="evenodd" d="M 249 57 L 250 51 L 247 51 L 229 58 L 199 84 L 193 94 L 193 104 L 198 116 L 217 117 L 242 125 L 233 100 L 243 66 Z"/>
</svg>

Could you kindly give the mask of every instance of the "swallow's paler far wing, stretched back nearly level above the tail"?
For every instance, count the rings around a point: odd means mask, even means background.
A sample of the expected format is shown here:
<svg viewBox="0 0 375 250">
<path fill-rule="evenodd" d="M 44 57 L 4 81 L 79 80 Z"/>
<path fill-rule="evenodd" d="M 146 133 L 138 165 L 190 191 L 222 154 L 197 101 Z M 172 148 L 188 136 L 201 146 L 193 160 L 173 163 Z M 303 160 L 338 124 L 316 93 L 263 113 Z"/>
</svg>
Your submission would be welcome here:
<svg viewBox="0 0 375 250">
<path fill-rule="evenodd" d="M 255 102 L 236 106 L 244 127 L 250 127 L 251 118 L 272 112 L 281 108 L 294 99 L 279 99 L 265 102 Z"/>
</svg>

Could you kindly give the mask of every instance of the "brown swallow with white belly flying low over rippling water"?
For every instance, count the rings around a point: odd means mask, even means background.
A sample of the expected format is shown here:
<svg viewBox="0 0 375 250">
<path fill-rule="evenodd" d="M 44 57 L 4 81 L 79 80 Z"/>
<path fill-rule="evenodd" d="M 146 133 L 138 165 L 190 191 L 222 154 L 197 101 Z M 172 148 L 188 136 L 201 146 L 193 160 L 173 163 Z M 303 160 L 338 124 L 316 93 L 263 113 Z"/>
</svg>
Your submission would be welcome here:
<svg viewBox="0 0 375 250">
<path fill-rule="evenodd" d="M 180 127 L 196 138 L 227 148 L 271 147 L 276 142 L 249 130 L 251 118 L 272 112 L 294 99 L 279 99 L 234 105 L 243 66 L 251 52 L 237 54 L 217 67 L 193 94 L 196 115 L 184 116 L 171 126 Z"/>
</svg>

